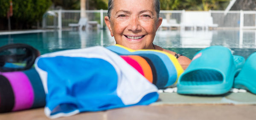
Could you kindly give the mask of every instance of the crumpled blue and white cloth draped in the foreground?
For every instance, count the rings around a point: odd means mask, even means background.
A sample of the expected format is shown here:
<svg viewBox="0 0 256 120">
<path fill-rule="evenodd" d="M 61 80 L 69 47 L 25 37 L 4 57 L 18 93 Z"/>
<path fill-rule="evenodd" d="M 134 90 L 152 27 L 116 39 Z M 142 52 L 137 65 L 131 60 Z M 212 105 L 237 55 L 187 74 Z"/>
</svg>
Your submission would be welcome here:
<svg viewBox="0 0 256 120">
<path fill-rule="evenodd" d="M 101 46 L 44 54 L 37 58 L 50 118 L 82 111 L 148 105 L 158 99 L 157 87 Z"/>
</svg>

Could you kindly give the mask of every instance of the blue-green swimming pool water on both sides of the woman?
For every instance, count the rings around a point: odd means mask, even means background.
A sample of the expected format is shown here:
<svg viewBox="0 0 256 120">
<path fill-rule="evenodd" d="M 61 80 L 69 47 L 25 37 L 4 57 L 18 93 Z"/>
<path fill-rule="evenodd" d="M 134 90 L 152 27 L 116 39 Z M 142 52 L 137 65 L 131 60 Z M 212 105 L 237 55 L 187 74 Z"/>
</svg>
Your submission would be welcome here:
<svg viewBox="0 0 256 120">
<path fill-rule="evenodd" d="M 0 46 L 8 43 L 26 43 L 34 46 L 41 54 L 45 54 L 66 49 L 111 46 L 115 44 L 115 41 L 108 30 L 52 30 L 28 34 L 0 35 Z M 233 54 L 247 58 L 256 51 L 256 31 L 157 31 L 154 44 L 183 54 L 190 59 L 201 49 L 215 45 L 228 47 Z"/>
</svg>

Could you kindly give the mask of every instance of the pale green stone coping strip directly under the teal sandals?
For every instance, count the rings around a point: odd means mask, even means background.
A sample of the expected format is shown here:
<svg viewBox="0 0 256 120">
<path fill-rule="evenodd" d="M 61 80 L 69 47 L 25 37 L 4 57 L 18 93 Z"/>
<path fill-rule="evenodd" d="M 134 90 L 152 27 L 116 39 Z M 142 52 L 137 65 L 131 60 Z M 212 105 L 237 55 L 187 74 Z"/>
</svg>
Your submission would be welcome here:
<svg viewBox="0 0 256 120">
<path fill-rule="evenodd" d="M 187 105 L 187 104 L 235 104 L 256 105 L 256 95 L 250 92 L 233 93 L 218 96 L 181 95 L 177 93 L 160 93 L 153 105 Z"/>
</svg>

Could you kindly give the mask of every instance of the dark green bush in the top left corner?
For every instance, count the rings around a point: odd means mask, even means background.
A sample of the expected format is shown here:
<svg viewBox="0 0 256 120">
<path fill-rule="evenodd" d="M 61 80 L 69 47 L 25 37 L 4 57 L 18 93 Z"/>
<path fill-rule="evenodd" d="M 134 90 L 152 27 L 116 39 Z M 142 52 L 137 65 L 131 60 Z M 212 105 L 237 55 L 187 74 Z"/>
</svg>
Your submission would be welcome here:
<svg viewBox="0 0 256 120">
<path fill-rule="evenodd" d="M 51 0 L 12 0 L 12 3 L 12 22 L 15 21 L 16 25 L 26 24 L 26 26 L 31 26 L 33 23 L 40 21 L 45 11 L 52 4 Z M 9 0 L 0 0 L 0 18 L 7 16 L 9 6 Z"/>
</svg>

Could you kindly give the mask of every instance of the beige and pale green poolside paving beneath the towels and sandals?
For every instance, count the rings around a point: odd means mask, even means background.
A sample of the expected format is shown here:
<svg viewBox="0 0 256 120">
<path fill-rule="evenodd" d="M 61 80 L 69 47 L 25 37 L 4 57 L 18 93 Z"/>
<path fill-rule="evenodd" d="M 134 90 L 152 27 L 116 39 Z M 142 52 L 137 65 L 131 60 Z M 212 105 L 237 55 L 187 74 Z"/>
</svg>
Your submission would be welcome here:
<svg viewBox="0 0 256 120">
<path fill-rule="evenodd" d="M 255 120 L 256 95 L 189 96 L 160 93 L 149 106 L 83 112 L 54 120 Z M 0 120 L 47 120 L 44 108 L 0 114 Z M 50 119 L 49 119 L 50 120 Z"/>
</svg>

